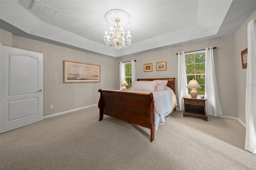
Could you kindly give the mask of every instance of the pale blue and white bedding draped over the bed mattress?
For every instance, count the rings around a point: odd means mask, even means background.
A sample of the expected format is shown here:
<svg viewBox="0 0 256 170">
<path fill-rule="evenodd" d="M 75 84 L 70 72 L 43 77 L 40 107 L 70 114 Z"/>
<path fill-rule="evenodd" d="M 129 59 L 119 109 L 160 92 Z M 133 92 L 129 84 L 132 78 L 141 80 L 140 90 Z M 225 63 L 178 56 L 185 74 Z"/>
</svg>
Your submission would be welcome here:
<svg viewBox="0 0 256 170">
<path fill-rule="evenodd" d="M 124 91 L 124 90 L 116 90 L 116 91 Z M 164 117 L 169 115 L 174 107 L 177 105 L 176 96 L 173 90 L 166 86 L 164 91 L 141 91 L 141 90 L 125 90 L 125 92 L 133 92 L 133 93 L 152 93 L 154 97 L 154 122 L 155 129 L 158 129 L 159 125 L 164 125 Z"/>
</svg>

